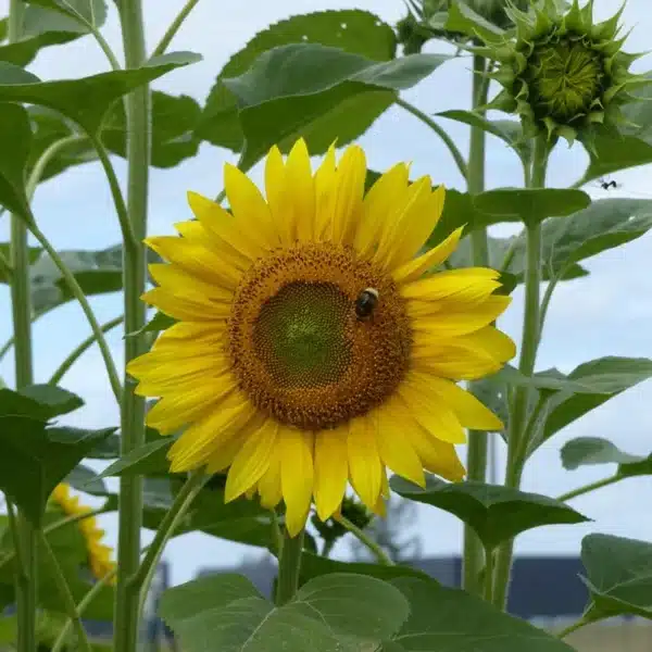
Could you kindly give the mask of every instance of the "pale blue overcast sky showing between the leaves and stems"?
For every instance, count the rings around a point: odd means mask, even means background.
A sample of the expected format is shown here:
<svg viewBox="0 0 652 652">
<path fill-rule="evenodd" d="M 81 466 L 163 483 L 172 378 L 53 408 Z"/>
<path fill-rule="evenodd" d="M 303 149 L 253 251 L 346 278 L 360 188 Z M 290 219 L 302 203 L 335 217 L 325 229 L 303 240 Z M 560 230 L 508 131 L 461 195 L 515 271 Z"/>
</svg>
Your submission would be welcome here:
<svg viewBox="0 0 652 652">
<path fill-rule="evenodd" d="M 120 35 L 116 16 L 113 4 L 109 4 L 112 13 L 104 33 L 108 40 L 117 48 Z M 145 2 L 147 40 L 150 47 L 158 42 L 181 4 L 181 0 Z M 619 4 L 615 0 L 597 0 L 597 14 L 606 17 Z M 7 5 L 8 0 L 0 0 L 0 16 L 7 13 Z M 203 55 L 203 61 L 173 72 L 154 86 L 175 95 L 190 95 L 203 102 L 229 55 L 269 23 L 297 13 L 352 7 L 374 11 L 389 23 L 402 17 L 404 12 L 400 0 L 358 0 L 355 3 L 348 3 L 346 0 L 203 0 L 172 46 L 173 50 L 199 52 Z M 652 14 L 649 12 L 648 0 L 629 0 L 624 22 L 628 27 L 634 27 L 628 50 L 649 49 Z M 639 64 L 641 70 L 652 67 L 652 59 L 648 58 Z M 468 62 L 465 60 L 441 66 L 418 88 L 405 92 L 404 97 L 426 113 L 467 109 L 467 68 Z M 101 72 L 106 70 L 106 64 L 95 41 L 85 38 L 64 47 L 49 48 L 39 55 L 30 70 L 42 79 L 57 79 Z M 466 129 L 456 123 L 447 123 L 446 126 L 466 149 Z M 413 161 L 414 175 L 427 173 L 436 183 L 462 189 L 462 179 L 438 138 L 400 109 L 385 113 L 360 142 L 367 152 L 369 166 L 375 170 L 387 168 L 397 161 L 410 160 Z M 153 170 L 149 231 L 172 233 L 174 222 L 189 216 L 186 205 L 188 189 L 209 197 L 215 196 L 222 189 L 222 167 L 226 161 L 235 162 L 235 155 L 211 146 L 202 146 L 197 158 L 175 170 Z M 570 150 L 565 146 L 559 147 L 550 165 L 549 184 L 562 187 L 573 183 L 584 172 L 586 161 L 586 154 L 579 146 Z M 121 178 L 124 178 L 124 162 L 116 160 L 115 165 Z M 254 173 L 260 178 L 260 171 Z M 488 187 L 518 185 L 521 175 L 517 159 L 502 141 L 490 137 L 487 152 Z M 618 193 L 641 197 L 651 187 L 649 167 L 620 173 L 616 175 L 616 179 L 623 189 L 612 191 L 610 197 Z M 590 192 L 595 197 L 604 196 L 597 188 L 591 188 Z M 104 249 L 120 239 L 106 181 L 96 164 L 74 168 L 57 177 L 54 181 L 39 186 L 34 209 L 41 229 L 59 249 Z M 512 231 L 512 228 L 501 227 L 497 233 Z M 4 218 L 0 221 L 0 241 L 5 241 L 8 237 L 9 225 Z M 649 336 L 652 317 L 651 249 L 651 237 L 640 238 L 589 261 L 587 266 L 591 271 L 590 277 L 563 284 L 557 289 L 549 312 L 538 364 L 540 368 L 556 366 L 569 371 L 581 362 L 607 354 L 652 356 L 652 340 Z M 502 318 L 501 327 L 518 339 L 522 292 L 517 290 L 514 296 L 515 301 Z M 121 297 L 117 294 L 96 298 L 91 302 L 100 322 L 122 313 Z M 0 315 L 1 343 L 11 335 L 9 290 L 5 286 L 0 286 Z M 86 321 L 75 303 L 40 319 L 34 328 L 37 381 L 46 381 L 67 352 L 88 334 Z M 111 334 L 109 340 L 117 362 L 122 364 L 120 333 Z M 0 376 L 11 386 L 11 355 L 0 363 Z M 88 427 L 117 424 L 115 402 L 96 349 L 73 367 L 62 385 L 86 400 L 85 408 L 68 417 L 67 423 Z M 560 463 L 559 449 L 564 441 L 574 437 L 607 437 L 626 451 L 648 454 L 652 451 L 651 400 L 652 384 L 642 384 L 563 430 L 537 452 L 525 474 L 524 489 L 559 496 L 611 473 L 610 467 L 565 472 Z M 503 453 L 501 447 L 499 463 L 504 457 Z M 652 478 L 634 478 L 580 498 L 574 502 L 574 506 L 593 518 L 593 523 L 530 531 L 518 539 L 517 552 L 576 554 L 582 536 L 591 531 L 652 539 L 652 519 L 649 517 L 649 510 L 643 509 L 651 496 Z M 115 518 L 103 517 L 103 523 L 111 542 L 114 542 Z M 425 554 L 451 554 L 461 549 L 461 526 L 455 518 L 443 512 L 419 507 L 418 532 L 423 538 Z M 188 554 L 189 550 L 192 554 Z M 203 535 L 189 535 L 175 539 L 170 544 L 166 556 L 173 564 L 173 580 L 178 582 L 192 577 L 199 567 L 218 562 L 237 563 L 243 553 L 253 556 L 259 554 L 253 548 Z M 337 549 L 336 553 L 346 554 L 346 548 Z"/>
</svg>

